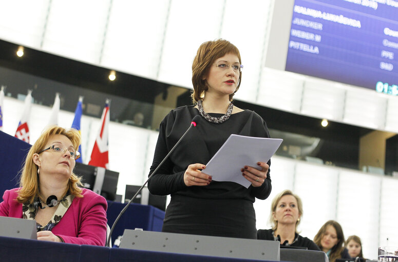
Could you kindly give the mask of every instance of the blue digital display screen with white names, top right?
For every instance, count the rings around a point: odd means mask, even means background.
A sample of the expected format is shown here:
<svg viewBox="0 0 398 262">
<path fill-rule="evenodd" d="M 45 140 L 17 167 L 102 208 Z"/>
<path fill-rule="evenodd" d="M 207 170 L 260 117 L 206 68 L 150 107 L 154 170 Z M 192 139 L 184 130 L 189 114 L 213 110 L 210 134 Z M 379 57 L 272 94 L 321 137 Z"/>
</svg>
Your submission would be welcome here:
<svg viewBox="0 0 398 262">
<path fill-rule="evenodd" d="M 398 0 L 295 0 L 286 71 L 398 95 Z"/>
</svg>

